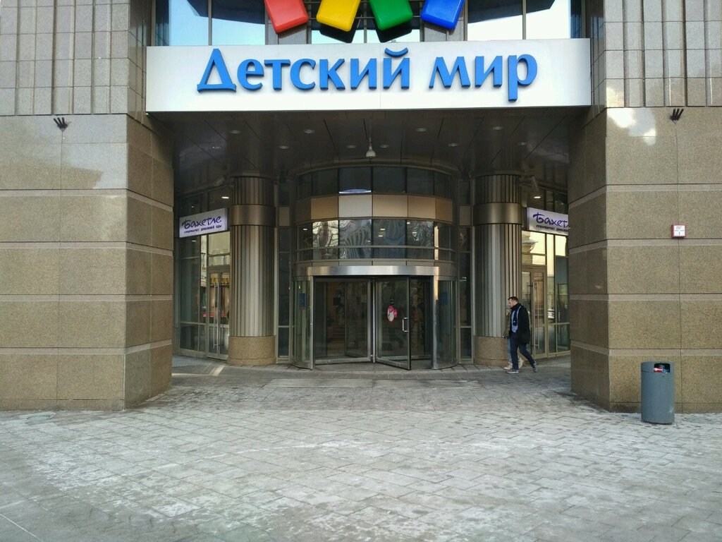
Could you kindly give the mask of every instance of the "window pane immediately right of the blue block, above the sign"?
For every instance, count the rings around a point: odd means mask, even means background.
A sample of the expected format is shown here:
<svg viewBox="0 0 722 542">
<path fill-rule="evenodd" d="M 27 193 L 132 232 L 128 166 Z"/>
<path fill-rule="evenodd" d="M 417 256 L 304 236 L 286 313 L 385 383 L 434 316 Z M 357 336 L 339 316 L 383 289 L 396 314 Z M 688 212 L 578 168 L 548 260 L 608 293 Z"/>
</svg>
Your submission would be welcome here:
<svg viewBox="0 0 722 542">
<path fill-rule="evenodd" d="M 521 0 L 467 0 L 467 6 L 466 40 L 521 40 Z"/>
</svg>

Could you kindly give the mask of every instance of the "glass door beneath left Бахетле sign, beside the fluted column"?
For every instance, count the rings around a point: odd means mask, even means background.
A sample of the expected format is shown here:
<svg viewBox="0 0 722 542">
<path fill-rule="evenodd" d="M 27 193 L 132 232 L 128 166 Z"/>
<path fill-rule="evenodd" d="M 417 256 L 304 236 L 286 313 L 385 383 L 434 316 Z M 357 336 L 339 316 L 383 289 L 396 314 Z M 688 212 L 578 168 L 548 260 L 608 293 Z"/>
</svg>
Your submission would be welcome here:
<svg viewBox="0 0 722 542">
<path fill-rule="evenodd" d="M 208 356 L 226 359 L 228 356 L 228 317 L 230 309 L 230 268 L 212 267 L 208 270 Z"/>
</svg>

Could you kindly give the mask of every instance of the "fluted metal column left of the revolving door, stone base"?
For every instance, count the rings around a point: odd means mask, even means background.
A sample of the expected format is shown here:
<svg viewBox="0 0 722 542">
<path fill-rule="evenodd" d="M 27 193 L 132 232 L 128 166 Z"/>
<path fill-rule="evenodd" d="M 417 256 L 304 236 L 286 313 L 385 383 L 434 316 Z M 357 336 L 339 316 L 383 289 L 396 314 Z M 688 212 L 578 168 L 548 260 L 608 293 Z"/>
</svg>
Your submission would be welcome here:
<svg viewBox="0 0 722 542">
<path fill-rule="evenodd" d="M 252 176 L 236 177 L 234 183 L 228 364 L 274 364 L 274 185 Z"/>
</svg>

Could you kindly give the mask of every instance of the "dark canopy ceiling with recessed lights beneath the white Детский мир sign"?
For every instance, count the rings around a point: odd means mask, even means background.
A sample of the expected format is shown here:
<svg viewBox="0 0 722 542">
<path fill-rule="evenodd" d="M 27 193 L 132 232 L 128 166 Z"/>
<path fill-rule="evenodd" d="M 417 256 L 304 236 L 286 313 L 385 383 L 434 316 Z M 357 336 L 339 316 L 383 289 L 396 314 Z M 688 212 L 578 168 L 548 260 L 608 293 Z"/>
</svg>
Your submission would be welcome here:
<svg viewBox="0 0 722 542">
<path fill-rule="evenodd" d="M 471 178 L 516 171 L 566 192 L 570 138 L 586 108 L 156 113 L 174 133 L 175 192 L 232 176 L 292 178 L 341 163 L 408 164 Z M 369 142 L 375 158 L 366 158 Z"/>
</svg>

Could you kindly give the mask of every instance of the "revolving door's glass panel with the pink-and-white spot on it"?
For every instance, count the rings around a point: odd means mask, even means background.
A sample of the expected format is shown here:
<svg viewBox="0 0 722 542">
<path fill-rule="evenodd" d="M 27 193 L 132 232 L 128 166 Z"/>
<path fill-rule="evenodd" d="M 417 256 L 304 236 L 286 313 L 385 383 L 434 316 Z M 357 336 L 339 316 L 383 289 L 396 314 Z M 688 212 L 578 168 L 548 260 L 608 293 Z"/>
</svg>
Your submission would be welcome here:
<svg viewBox="0 0 722 542">
<path fill-rule="evenodd" d="M 376 281 L 375 322 L 375 361 L 411 369 L 408 278 L 379 278 Z"/>
</svg>

